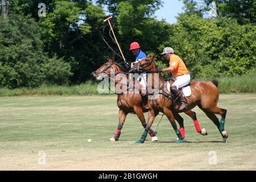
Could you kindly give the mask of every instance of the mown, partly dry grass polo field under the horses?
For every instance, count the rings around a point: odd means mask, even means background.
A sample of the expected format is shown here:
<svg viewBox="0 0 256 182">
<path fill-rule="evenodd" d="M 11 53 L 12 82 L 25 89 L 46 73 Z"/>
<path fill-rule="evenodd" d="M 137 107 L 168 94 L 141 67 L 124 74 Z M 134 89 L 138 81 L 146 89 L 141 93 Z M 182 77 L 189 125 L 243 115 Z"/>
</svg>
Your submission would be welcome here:
<svg viewBox="0 0 256 182">
<path fill-rule="evenodd" d="M 135 115 L 128 115 L 118 142 L 108 141 L 118 125 L 116 96 L 1 97 L 0 170 L 256 170 L 256 94 L 221 94 L 218 106 L 228 110 L 228 143 L 196 107 L 208 136 L 197 134 L 181 114 L 185 143 L 176 144 L 164 117 L 158 142 L 148 136 L 144 144 L 134 144 L 143 131 Z M 46 164 L 38 163 L 39 151 Z M 210 151 L 217 164 L 209 164 Z"/>
</svg>

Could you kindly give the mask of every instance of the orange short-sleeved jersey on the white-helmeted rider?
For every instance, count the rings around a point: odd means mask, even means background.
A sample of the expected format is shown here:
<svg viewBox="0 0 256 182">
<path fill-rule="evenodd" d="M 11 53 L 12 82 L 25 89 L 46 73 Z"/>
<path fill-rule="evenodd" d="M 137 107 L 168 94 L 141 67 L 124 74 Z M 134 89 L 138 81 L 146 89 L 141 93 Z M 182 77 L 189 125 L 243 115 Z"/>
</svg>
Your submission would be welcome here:
<svg viewBox="0 0 256 182">
<path fill-rule="evenodd" d="M 169 61 L 170 67 L 174 68 L 172 71 L 172 76 L 177 77 L 179 75 L 184 75 L 185 73 L 189 73 L 187 67 L 185 66 L 182 59 L 180 59 L 177 55 L 172 55 Z"/>
</svg>

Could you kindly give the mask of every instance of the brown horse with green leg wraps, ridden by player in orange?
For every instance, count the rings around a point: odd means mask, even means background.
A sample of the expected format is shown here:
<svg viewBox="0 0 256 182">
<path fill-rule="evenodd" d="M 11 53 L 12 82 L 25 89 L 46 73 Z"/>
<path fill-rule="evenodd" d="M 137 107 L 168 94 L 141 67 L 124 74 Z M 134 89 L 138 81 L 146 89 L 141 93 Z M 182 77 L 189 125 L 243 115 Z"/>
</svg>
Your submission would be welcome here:
<svg viewBox="0 0 256 182">
<path fill-rule="evenodd" d="M 183 143 L 183 138 L 181 136 L 180 130 L 177 129 L 175 123 L 175 113 L 180 113 L 175 107 L 175 101 L 168 90 L 166 90 L 166 81 L 163 81 L 163 78 L 159 75 L 159 80 L 154 80 L 155 74 L 159 74 L 158 69 L 154 63 L 154 57 L 147 56 L 141 61 L 134 62 L 131 64 L 132 71 L 146 71 L 149 74 L 148 80 L 151 80 L 151 84 L 148 83 L 148 87 L 159 88 L 158 92 L 151 93 L 156 94 L 158 97 L 155 100 L 148 100 L 148 106 L 150 110 L 148 111 L 148 122 L 147 126 L 142 134 L 141 140 L 137 140 L 136 143 L 143 143 L 147 137 L 148 128 L 152 126 L 156 115 L 159 112 L 166 114 L 167 118 L 171 122 L 172 127 L 177 134 L 179 140 L 177 143 Z M 158 82 L 155 82 L 158 81 Z M 157 84 L 157 85 L 156 85 Z M 195 106 L 199 106 L 201 110 L 207 115 L 209 119 L 218 127 L 223 141 L 226 142 L 228 138 L 228 133 L 224 130 L 224 123 L 226 117 L 226 109 L 221 109 L 217 106 L 218 102 L 218 82 L 213 81 L 193 81 L 191 82 L 191 96 L 187 97 L 188 110 L 193 109 Z M 218 118 L 215 114 L 221 115 L 221 122 L 218 121 Z"/>
</svg>

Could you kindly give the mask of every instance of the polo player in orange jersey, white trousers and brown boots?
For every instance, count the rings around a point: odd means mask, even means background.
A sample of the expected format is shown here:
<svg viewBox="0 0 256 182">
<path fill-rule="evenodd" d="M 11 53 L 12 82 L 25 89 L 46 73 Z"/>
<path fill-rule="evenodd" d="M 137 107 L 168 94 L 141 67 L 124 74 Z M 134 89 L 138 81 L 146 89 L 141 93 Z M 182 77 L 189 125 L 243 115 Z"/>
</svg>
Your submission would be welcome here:
<svg viewBox="0 0 256 182">
<path fill-rule="evenodd" d="M 161 53 L 162 59 L 169 61 L 169 67 L 162 69 L 159 68 L 159 72 L 171 72 L 174 83 L 171 86 L 171 93 L 177 98 L 177 104 L 179 105 L 179 110 L 185 110 L 188 108 L 187 101 L 179 88 L 188 85 L 190 82 L 190 75 L 187 67 L 185 66 L 182 59 L 174 54 L 174 49 L 171 47 L 166 47 Z"/>
</svg>

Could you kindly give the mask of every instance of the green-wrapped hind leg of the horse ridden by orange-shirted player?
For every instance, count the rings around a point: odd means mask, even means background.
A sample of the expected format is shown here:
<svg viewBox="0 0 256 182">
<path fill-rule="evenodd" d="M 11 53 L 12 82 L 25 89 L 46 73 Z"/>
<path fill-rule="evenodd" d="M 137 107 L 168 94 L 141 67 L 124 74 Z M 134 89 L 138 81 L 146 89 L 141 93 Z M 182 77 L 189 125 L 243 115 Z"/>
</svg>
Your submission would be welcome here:
<svg viewBox="0 0 256 182">
<path fill-rule="evenodd" d="M 228 133 L 224 130 L 224 123 L 225 123 L 225 117 L 226 117 L 226 109 L 220 109 L 217 106 L 214 106 L 210 109 L 202 109 L 204 113 L 207 115 L 207 117 L 213 121 L 214 125 L 217 126 L 218 131 L 220 131 L 221 136 L 223 138 L 223 142 L 227 142 L 228 138 Z M 221 122 L 218 121 L 218 118 L 216 117 L 215 114 L 220 114 L 221 115 Z"/>
</svg>

